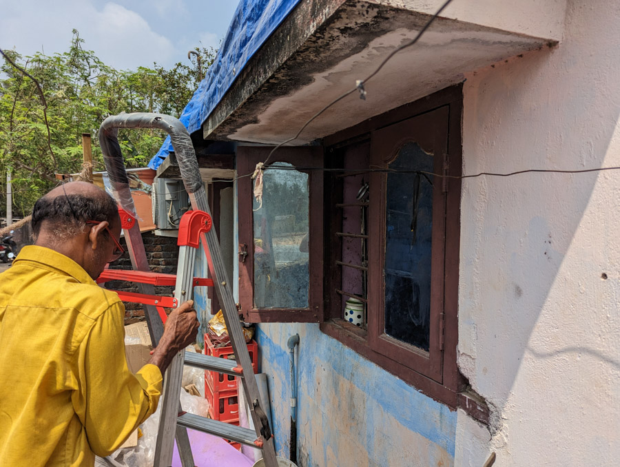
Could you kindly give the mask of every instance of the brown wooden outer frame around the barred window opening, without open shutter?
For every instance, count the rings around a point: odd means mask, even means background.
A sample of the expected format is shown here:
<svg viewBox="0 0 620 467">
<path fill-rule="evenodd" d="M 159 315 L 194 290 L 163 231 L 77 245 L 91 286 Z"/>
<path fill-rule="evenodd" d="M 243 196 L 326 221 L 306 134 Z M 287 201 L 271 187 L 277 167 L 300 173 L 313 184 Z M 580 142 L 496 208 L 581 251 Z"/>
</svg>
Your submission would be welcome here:
<svg viewBox="0 0 620 467">
<path fill-rule="evenodd" d="M 389 134 L 389 128 L 395 129 L 399 125 L 406 127 L 407 121 L 412 118 L 432 114 L 433 111 L 442 107 L 448 112 L 447 116 L 447 147 L 448 154 L 447 167 L 437 167 L 451 176 L 460 176 L 462 171 L 462 138 L 461 138 L 461 119 L 462 119 L 462 86 L 457 85 L 448 87 L 446 90 L 436 92 L 431 96 L 420 99 L 413 103 L 397 107 L 380 116 L 375 116 L 364 121 L 355 127 L 343 130 L 337 134 L 324 138 L 324 145 L 327 147 L 326 158 L 327 167 L 342 167 L 342 160 L 338 160 L 338 152 L 342 148 L 351 144 L 359 144 L 362 142 L 370 142 L 371 164 L 381 162 L 385 165 L 389 159 L 395 154 L 387 156 L 387 160 L 378 161 L 375 154 L 380 151 L 378 147 L 373 148 L 373 144 L 377 144 L 380 139 L 375 138 L 373 143 L 373 134 L 375 136 L 384 136 L 383 140 L 387 141 L 391 147 L 399 147 L 400 143 L 411 141 L 409 138 L 401 138 L 402 141 L 396 141 L 395 134 Z M 387 129 L 387 130 L 386 130 Z M 380 143 L 380 146 L 382 143 Z M 374 152 L 373 152 L 373 149 Z M 330 158 L 330 156 L 333 156 Z M 371 196 L 371 205 L 369 206 L 369 218 L 372 220 L 369 225 L 369 284 L 383 284 L 383 261 L 384 254 L 378 255 L 378 252 L 384 251 L 384 222 L 385 222 L 385 205 L 384 205 L 384 187 L 385 174 L 374 172 L 371 174 L 371 192 L 374 187 L 381 187 L 382 196 Z M 339 191 L 338 181 L 329 172 L 326 173 L 325 181 L 325 199 L 326 209 L 324 222 L 325 244 L 327 245 L 326 261 L 325 261 L 325 321 L 320 324 L 320 329 L 339 340 L 343 344 L 351 347 L 351 349 L 360 353 L 368 360 L 375 362 L 384 369 L 400 377 L 405 382 L 415 386 L 415 388 L 433 397 L 434 399 L 456 408 L 462 404 L 463 396 L 459 391 L 464 388 L 464 378 L 460 375 L 457 368 L 457 341 L 458 341 L 458 277 L 459 277 L 459 238 L 460 238 L 460 194 L 461 182 L 459 178 L 451 178 L 444 184 L 447 189 L 445 194 L 445 216 L 435 216 L 436 203 L 433 202 L 433 272 L 440 273 L 440 278 L 433 278 L 433 282 L 442 282 L 443 293 L 439 297 L 442 300 L 442 308 L 431 313 L 435 320 L 439 320 L 434 327 L 431 327 L 431 352 L 424 352 L 413 348 L 402 342 L 398 342 L 389 336 L 384 335 L 382 329 L 384 318 L 384 293 L 370 293 L 368 314 L 368 331 L 360 329 L 357 326 L 344 321 L 340 316 L 341 295 L 335 293 L 338 289 L 339 273 L 331 267 L 331 259 L 338 258 L 339 242 L 335 238 L 333 232 L 338 230 L 338 223 L 341 217 L 330 211 L 331 207 L 336 203 L 342 203 L 338 196 L 342 196 Z M 437 190 L 435 190 L 436 192 Z M 442 191 L 442 190 L 439 190 Z M 433 196 L 437 196 L 435 193 Z M 374 201 L 373 201 L 374 200 Z M 445 226 L 435 229 L 435 222 L 446 220 Z M 439 231 L 443 230 L 445 235 L 444 242 L 440 242 L 444 247 L 444 252 L 437 252 L 435 249 L 435 238 Z M 443 262 L 439 267 L 438 263 Z M 440 271 L 440 272 L 439 272 Z M 435 284 L 433 293 L 437 293 L 437 284 Z M 440 311 L 440 313 L 437 313 Z M 441 316 L 440 316 L 441 314 Z M 433 334 L 433 329 L 435 333 Z M 440 344 L 440 332 L 443 333 L 442 343 Z M 434 347 L 434 349 L 433 349 Z M 439 349 L 441 347 L 441 349 Z M 433 353 L 433 358 L 429 355 Z M 480 417 L 477 417 L 480 419 Z M 484 421 L 484 420 L 483 420 Z"/>
</svg>

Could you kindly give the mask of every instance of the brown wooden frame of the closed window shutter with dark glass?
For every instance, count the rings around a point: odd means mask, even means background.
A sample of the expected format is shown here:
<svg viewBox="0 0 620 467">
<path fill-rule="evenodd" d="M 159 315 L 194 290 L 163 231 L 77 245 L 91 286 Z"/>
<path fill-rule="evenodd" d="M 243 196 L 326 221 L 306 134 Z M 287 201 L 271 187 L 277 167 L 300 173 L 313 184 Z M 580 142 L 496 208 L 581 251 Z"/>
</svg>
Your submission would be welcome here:
<svg viewBox="0 0 620 467">
<path fill-rule="evenodd" d="M 398 152 L 406 143 L 416 143 L 422 149 L 434 151 L 433 172 L 442 173 L 444 152 L 447 151 L 448 105 L 431 110 L 422 115 L 413 116 L 399 123 L 393 123 L 371 132 L 371 167 L 387 169 L 395 160 Z M 422 131 L 417 127 L 422 126 Z M 417 130 L 417 131 L 416 131 Z M 384 284 L 384 264 L 386 250 L 386 185 L 388 174 L 373 172 L 370 176 L 370 190 L 378 196 L 371 196 L 369 218 L 374 219 L 369 226 L 369 283 Z M 385 329 L 385 290 L 375 287 L 369 291 L 369 309 L 375 312 L 369 316 L 369 344 L 373 351 L 387 355 L 398 362 L 405 362 L 413 371 L 442 382 L 442 347 L 444 320 L 441 311 L 444 308 L 444 257 L 446 227 L 445 198 L 441 180 L 433 180 L 433 241 L 431 265 L 431 329 L 428 351 L 395 338 L 384 332 Z M 372 266 L 375 265 L 375 267 Z"/>
</svg>

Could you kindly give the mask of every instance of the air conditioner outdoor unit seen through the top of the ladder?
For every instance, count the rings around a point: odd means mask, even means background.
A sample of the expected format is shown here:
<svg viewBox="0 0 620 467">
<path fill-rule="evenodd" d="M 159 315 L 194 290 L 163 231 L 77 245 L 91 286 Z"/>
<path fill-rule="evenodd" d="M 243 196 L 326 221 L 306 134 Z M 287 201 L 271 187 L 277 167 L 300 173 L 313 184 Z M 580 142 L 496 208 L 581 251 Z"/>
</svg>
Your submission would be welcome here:
<svg viewBox="0 0 620 467">
<path fill-rule="evenodd" d="M 178 222 L 189 209 L 189 196 L 183 180 L 155 178 L 152 193 L 153 222 L 158 229 L 178 229 Z"/>
</svg>

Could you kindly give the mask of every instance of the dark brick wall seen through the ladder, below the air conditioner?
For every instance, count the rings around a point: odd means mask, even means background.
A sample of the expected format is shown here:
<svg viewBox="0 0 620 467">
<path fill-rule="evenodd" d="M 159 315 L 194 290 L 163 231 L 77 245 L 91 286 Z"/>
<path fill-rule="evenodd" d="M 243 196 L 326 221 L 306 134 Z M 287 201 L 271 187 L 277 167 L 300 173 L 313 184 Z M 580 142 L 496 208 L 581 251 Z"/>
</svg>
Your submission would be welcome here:
<svg viewBox="0 0 620 467">
<path fill-rule="evenodd" d="M 146 250 L 147 259 L 151 271 L 161 273 L 176 273 L 176 262 L 178 260 L 178 247 L 176 246 L 175 237 L 159 237 L 153 232 L 145 232 L 142 234 L 144 248 Z M 121 245 L 126 249 L 125 239 L 121 239 Z M 132 262 L 129 253 L 125 252 L 121 258 L 110 264 L 110 269 L 132 269 Z M 112 280 L 105 283 L 106 289 L 121 290 L 127 292 L 137 292 L 138 287 L 132 282 L 124 282 L 121 280 Z M 156 295 L 172 296 L 174 287 L 155 287 Z M 143 321 L 144 310 L 139 303 L 125 302 L 125 324 Z"/>
</svg>

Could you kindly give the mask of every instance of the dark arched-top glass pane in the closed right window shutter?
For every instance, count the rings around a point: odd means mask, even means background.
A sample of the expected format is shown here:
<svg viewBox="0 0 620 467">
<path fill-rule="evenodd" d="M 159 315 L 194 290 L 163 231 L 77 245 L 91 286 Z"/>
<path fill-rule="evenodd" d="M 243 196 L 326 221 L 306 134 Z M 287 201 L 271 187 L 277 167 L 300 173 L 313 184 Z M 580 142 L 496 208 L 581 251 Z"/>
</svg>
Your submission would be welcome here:
<svg viewBox="0 0 620 467">
<path fill-rule="evenodd" d="M 433 155 L 404 145 L 390 169 L 433 172 Z M 428 351 L 431 318 L 431 176 L 387 174 L 385 332 Z"/>
</svg>

